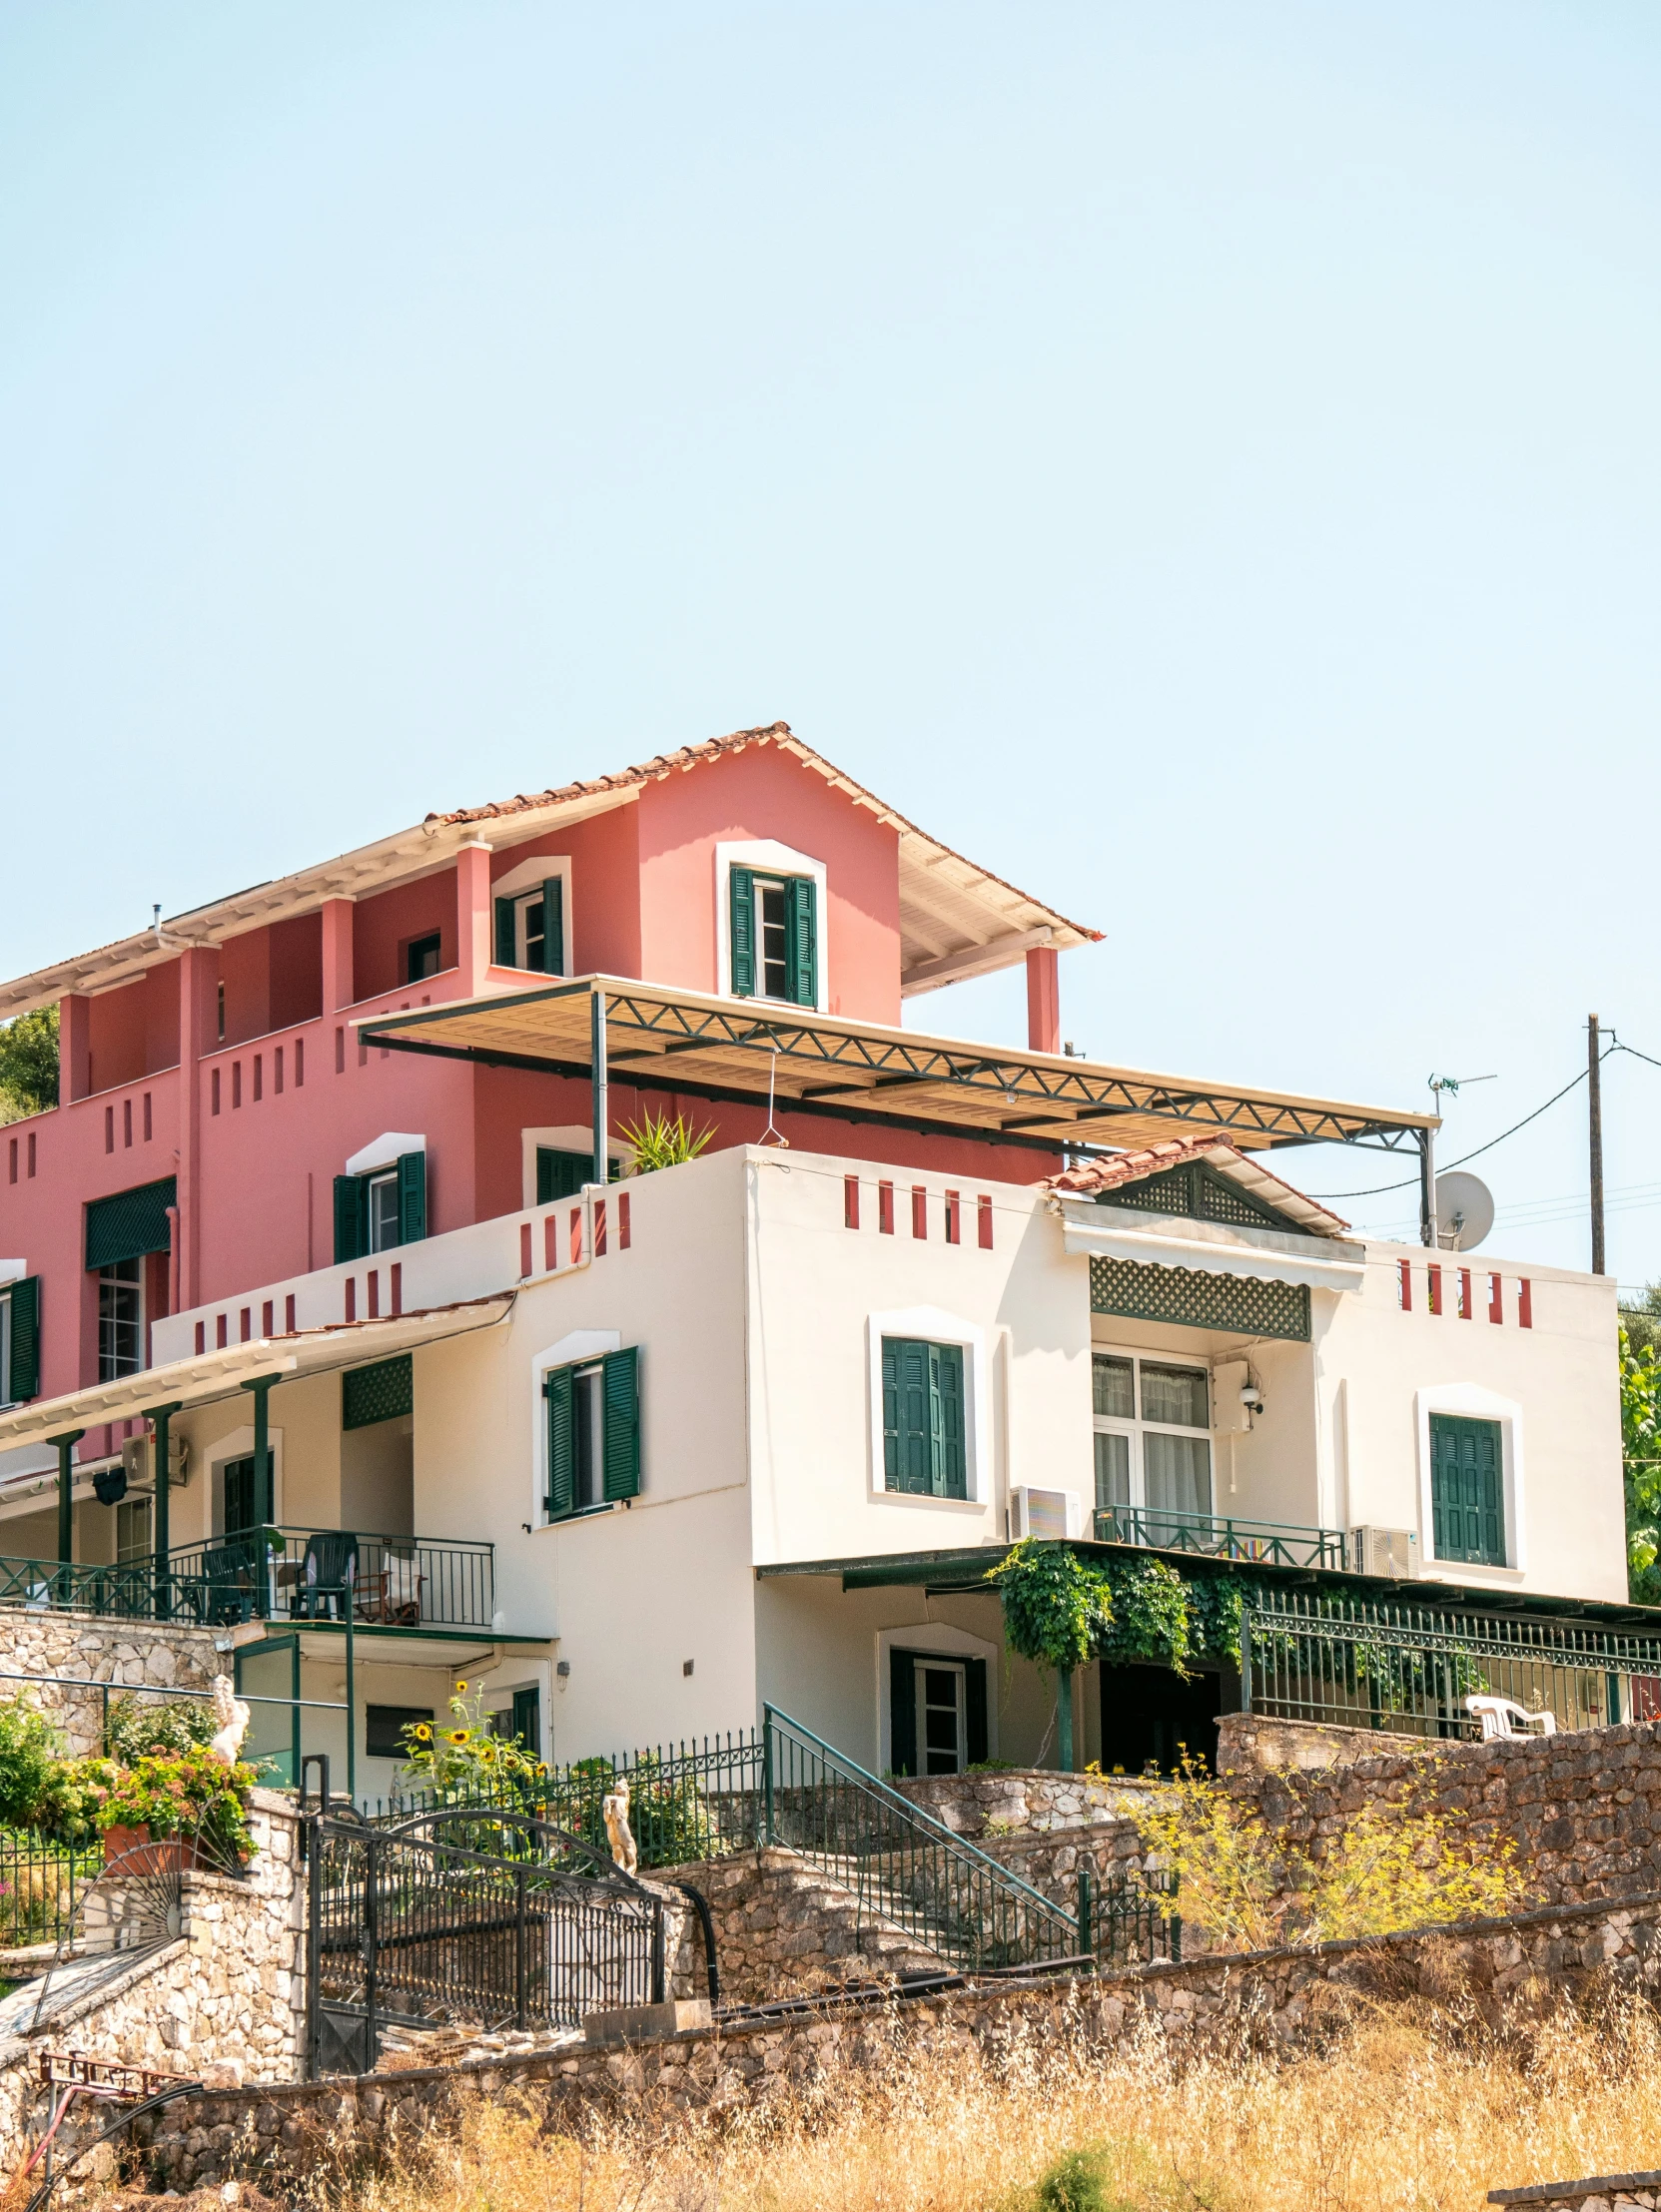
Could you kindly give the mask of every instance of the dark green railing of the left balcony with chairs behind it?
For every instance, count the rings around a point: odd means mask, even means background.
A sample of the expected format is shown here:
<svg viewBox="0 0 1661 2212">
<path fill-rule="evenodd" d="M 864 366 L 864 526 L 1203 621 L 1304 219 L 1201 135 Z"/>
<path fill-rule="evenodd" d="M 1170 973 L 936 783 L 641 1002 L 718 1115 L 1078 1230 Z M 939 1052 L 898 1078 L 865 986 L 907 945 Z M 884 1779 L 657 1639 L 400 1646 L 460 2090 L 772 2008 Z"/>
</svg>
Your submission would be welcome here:
<svg viewBox="0 0 1661 2212">
<path fill-rule="evenodd" d="M 177 1619 L 208 1628 L 241 1621 L 341 1621 L 358 1628 L 491 1628 L 491 1544 L 356 1528 L 250 1528 L 124 1566 L 0 1559 L 0 1606 Z"/>
</svg>

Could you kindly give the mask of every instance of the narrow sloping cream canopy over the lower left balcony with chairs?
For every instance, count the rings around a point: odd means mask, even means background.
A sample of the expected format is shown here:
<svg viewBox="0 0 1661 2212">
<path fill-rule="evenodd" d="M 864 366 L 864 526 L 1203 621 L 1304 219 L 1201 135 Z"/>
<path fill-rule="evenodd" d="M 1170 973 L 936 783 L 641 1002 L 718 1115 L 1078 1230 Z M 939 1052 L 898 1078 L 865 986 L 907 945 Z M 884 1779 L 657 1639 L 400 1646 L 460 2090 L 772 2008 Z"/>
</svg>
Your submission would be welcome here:
<svg viewBox="0 0 1661 2212">
<path fill-rule="evenodd" d="M 13 1444 L 35 1444 L 71 1429 L 93 1429 L 106 1420 L 142 1420 L 150 1407 L 170 1405 L 190 1411 L 234 1398 L 246 1383 L 270 1376 L 274 1383 L 327 1374 L 380 1360 L 411 1345 L 429 1345 L 440 1336 L 464 1336 L 504 1321 L 513 1292 L 500 1298 L 473 1298 L 467 1305 L 438 1305 L 396 1321 L 343 1321 L 327 1329 L 299 1329 L 294 1336 L 259 1336 L 248 1345 L 226 1345 L 223 1352 L 199 1352 L 166 1367 L 142 1367 L 117 1383 L 91 1383 L 64 1398 L 31 1398 L 29 1405 L 0 1413 L 0 1451 Z"/>
</svg>

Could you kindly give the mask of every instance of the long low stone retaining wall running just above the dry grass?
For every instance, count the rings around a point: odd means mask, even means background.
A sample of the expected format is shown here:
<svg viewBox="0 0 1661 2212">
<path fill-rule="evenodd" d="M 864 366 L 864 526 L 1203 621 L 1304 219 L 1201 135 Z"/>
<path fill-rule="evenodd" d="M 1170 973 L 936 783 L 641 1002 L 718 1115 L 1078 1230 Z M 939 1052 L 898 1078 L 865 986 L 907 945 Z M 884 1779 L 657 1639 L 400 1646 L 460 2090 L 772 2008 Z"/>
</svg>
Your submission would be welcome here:
<svg viewBox="0 0 1661 2212">
<path fill-rule="evenodd" d="M 783 2022 L 732 2022 L 626 2051 L 504 2053 L 458 2068 L 208 2093 L 157 2117 L 148 2163 L 153 2183 L 173 2190 L 230 2174 L 296 2185 L 341 2163 L 407 2157 L 411 2139 L 453 2128 L 469 2095 L 520 2093 L 551 2128 L 573 2128 L 586 2112 L 670 2117 L 765 2104 L 838 2068 L 889 2070 L 929 2053 L 991 2059 L 1020 2035 L 1110 2048 L 1152 2024 L 1192 2048 L 1241 2037 L 1296 2048 L 1358 1995 L 1444 1997 L 1458 1989 L 1497 2022 L 1511 2006 L 1575 2002 L 1610 1982 L 1661 1989 L 1661 1891 L 1312 1951 L 1212 1953 L 1132 1973 L 980 1984 L 863 2006 L 825 2002 Z"/>
</svg>

